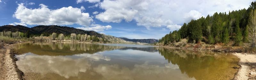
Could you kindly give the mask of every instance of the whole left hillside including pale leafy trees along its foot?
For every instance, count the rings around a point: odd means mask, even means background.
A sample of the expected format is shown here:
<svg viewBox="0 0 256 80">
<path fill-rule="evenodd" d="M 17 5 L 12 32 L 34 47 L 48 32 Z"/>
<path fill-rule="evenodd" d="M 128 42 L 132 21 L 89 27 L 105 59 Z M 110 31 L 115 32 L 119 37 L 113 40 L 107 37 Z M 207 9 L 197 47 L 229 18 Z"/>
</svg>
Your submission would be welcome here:
<svg viewBox="0 0 256 80">
<path fill-rule="evenodd" d="M 39 25 L 36 27 L 28 28 L 21 25 L 4 25 L 0 26 L 0 40 L 12 41 L 16 40 L 39 40 L 44 39 L 48 36 L 52 40 L 76 40 L 84 42 L 101 42 L 101 43 L 127 43 L 133 44 L 132 42 L 125 41 L 123 39 L 116 38 L 114 36 L 100 34 L 95 31 L 85 31 L 82 29 L 76 29 L 73 27 L 66 26 L 44 26 Z"/>
</svg>

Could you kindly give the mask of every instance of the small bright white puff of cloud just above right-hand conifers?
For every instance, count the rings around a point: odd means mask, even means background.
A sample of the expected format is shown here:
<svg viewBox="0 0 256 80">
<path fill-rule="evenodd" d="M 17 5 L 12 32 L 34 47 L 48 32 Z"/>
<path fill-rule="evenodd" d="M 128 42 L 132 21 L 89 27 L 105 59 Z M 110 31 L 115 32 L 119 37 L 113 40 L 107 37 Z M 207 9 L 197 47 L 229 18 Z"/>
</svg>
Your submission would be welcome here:
<svg viewBox="0 0 256 80">
<path fill-rule="evenodd" d="M 187 14 L 184 15 L 184 18 L 187 20 L 187 21 L 190 21 L 191 19 L 199 19 L 200 17 L 204 17 L 202 15 L 202 13 L 196 11 L 196 10 L 191 10 L 189 11 Z"/>
</svg>

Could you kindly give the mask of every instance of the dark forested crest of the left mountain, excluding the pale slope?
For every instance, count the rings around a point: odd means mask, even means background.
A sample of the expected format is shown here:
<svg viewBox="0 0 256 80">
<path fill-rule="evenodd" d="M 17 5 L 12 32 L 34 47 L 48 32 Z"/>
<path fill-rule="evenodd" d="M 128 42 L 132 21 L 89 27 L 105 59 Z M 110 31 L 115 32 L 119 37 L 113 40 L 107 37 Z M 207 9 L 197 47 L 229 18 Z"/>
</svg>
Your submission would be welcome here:
<svg viewBox="0 0 256 80">
<path fill-rule="evenodd" d="M 28 28 L 25 26 L 21 26 L 21 25 L 4 25 L 0 27 L 0 32 L 2 31 L 12 31 L 12 32 L 23 32 L 26 33 L 29 30 L 29 32 L 31 34 L 52 34 L 52 33 L 62 33 L 64 35 L 69 35 L 71 33 L 75 33 L 75 34 L 89 34 L 89 35 L 94 35 L 97 37 L 102 37 L 100 33 L 97 33 L 95 31 L 85 31 L 82 29 L 76 29 L 73 27 L 66 27 L 66 26 L 56 26 L 56 25 L 52 25 L 52 26 L 44 26 L 44 25 L 40 25 L 40 26 L 36 26 L 36 27 L 32 27 L 32 28 Z"/>
</svg>

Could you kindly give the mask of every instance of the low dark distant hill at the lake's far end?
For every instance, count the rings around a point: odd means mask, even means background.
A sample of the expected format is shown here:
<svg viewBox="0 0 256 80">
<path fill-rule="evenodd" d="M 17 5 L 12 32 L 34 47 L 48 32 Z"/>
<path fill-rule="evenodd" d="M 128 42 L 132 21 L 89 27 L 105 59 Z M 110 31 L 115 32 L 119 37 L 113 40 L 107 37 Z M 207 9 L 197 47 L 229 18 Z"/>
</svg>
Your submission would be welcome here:
<svg viewBox="0 0 256 80">
<path fill-rule="evenodd" d="M 119 37 L 120 39 L 126 40 L 126 41 L 132 41 L 132 42 L 140 42 L 140 43 L 154 43 L 158 42 L 159 40 L 156 39 L 128 39 L 125 37 Z"/>
</svg>

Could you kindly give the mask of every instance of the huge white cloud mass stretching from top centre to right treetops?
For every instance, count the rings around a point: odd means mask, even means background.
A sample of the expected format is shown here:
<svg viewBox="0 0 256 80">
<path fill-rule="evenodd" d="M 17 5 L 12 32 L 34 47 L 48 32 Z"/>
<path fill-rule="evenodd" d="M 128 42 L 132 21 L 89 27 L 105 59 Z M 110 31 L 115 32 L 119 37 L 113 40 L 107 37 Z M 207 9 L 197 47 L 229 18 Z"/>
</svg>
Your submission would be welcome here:
<svg viewBox="0 0 256 80">
<path fill-rule="evenodd" d="M 135 20 L 137 25 L 161 27 L 183 24 L 214 12 L 248 8 L 253 0 L 104 0 L 99 7 L 105 11 L 96 15 L 102 22 Z"/>
</svg>

